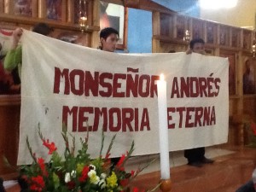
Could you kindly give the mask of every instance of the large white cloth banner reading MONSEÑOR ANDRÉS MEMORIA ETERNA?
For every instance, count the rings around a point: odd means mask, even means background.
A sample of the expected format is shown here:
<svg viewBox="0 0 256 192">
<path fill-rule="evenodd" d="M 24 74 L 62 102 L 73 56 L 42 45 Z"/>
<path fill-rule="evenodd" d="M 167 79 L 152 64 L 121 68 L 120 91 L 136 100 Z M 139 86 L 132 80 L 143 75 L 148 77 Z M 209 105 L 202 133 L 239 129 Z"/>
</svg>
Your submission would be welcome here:
<svg viewBox="0 0 256 192">
<path fill-rule="evenodd" d="M 228 60 L 207 55 L 117 54 L 47 38 L 22 36 L 20 146 L 18 164 L 32 162 L 26 148 L 45 157 L 45 138 L 64 149 L 62 122 L 77 137 L 90 125 L 89 152 L 99 154 L 117 134 L 112 156 L 159 153 L 156 80 L 167 82 L 170 151 L 226 143 L 228 137 Z"/>
</svg>

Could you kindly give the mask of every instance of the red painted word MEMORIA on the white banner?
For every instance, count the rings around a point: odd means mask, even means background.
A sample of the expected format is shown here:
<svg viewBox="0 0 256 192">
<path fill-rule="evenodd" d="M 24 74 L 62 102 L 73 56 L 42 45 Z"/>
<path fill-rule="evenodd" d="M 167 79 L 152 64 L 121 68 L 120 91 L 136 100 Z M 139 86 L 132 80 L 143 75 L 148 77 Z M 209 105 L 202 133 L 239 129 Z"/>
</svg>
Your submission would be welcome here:
<svg viewBox="0 0 256 192">
<path fill-rule="evenodd" d="M 140 119 L 140 121 L 139 121 Z M 66 125 L 72 122 L 73 132 L 98 131 L 102 122 L 103 131 L 150 131 L 150 121 L 148 109 L 143 108 L 139 113 L 138 108 L 92 108 L 92 107 L 72 107 L 63 106 L 62 121 Z"/>
</svg>

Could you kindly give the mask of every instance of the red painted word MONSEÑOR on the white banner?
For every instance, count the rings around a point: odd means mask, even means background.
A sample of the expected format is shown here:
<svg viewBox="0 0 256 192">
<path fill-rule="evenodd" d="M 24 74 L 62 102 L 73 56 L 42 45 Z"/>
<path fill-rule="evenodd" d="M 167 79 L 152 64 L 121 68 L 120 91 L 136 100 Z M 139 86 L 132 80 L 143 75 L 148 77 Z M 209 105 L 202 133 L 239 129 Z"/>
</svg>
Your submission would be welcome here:
<svg viewBox="0 0 256 192">
<path fill-rule="evenodd" d="M 159 76 L 148 74 L 100 73 L 55 67 L 54 93 L 75 96 L 154 97 Z"/>
</svg>

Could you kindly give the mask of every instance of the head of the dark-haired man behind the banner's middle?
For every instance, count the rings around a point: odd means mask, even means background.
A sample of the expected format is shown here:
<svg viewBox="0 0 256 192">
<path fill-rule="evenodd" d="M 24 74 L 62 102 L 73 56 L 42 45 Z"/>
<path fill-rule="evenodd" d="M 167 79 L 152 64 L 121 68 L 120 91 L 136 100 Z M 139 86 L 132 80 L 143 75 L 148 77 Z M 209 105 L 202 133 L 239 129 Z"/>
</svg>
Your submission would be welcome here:
<svg viewBox="0 0 256 192">
<path fill-rule="evenodd" d="M 112 27 L 102 29 L 100 33 L 102 50 L 113 52 L 119 40 L 119 32 Z"/>
</svg>

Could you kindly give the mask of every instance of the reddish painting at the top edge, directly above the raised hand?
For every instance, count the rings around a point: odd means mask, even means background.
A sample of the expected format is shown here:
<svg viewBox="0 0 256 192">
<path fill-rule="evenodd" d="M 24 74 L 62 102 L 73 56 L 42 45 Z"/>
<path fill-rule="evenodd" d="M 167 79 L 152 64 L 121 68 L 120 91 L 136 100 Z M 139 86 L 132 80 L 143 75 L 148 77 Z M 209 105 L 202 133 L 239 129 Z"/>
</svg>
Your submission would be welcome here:
<svg viewBox="0 0 256 192">
<path fill-rule="evenodd" d="M 15 0 L 15 15 L 32 16 L 32 0 Z"/>
</svg>

